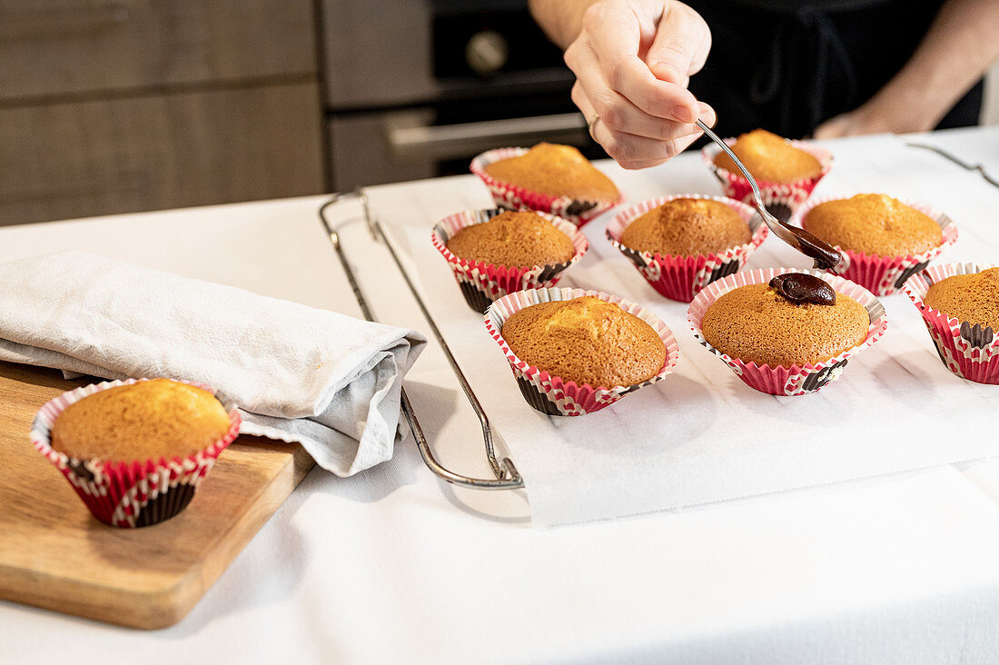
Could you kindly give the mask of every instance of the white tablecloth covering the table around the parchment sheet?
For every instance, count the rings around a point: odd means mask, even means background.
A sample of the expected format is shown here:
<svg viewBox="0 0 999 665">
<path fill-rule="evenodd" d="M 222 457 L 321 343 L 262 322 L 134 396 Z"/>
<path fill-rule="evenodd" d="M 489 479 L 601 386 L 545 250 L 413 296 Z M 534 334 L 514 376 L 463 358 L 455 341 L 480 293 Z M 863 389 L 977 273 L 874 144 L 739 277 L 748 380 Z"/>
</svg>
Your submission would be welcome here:
<svg viewBox="0 0 999 665">
<path fill-rule="evenodd" d="M 916 138 L 999 166 L 999 128 Z M 999 260 L 999 189 L 932 153 L 899 161 L 903 140 L 830 142 L 829 184 L 931 201 L 961 228 L 943 260 Z M 717 192 L 697 155 L 601 166 L 634 200 Z M 472 176 L 369 193 L 376 211 L 407 211 L 387 225 L 428 230 L 442 209 L 491 202 Z M 78 248 L 360 315 L 323 201 L 9 227 L 0 260 Z M 376 317 L 426 331 L 358 209 L 335 217 Z M 433 341 L 407 387 L 442 461 L 490 477 Z M 409 438 L 351 478 L 316 468 L 178 625 L 141 632 L 0 602 L 0 660 L 985 663 L 999 661 L 997 625 L 997 462 L 538 529 L 522 491 L 448 485 Z"/>
</svg>

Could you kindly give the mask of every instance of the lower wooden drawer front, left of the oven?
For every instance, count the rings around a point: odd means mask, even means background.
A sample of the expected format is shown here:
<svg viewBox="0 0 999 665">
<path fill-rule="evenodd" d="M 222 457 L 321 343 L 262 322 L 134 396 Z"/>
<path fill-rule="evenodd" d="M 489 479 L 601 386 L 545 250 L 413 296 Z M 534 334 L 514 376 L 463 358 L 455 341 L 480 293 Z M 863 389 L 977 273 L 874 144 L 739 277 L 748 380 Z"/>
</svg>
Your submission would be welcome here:
<svg viewBox="0 0 999 665">
<path fill-rule="evenodd" d="M 321 115 L 316 83 L 0 108 L 0 224 L 322 192 Z"/>
</svg>

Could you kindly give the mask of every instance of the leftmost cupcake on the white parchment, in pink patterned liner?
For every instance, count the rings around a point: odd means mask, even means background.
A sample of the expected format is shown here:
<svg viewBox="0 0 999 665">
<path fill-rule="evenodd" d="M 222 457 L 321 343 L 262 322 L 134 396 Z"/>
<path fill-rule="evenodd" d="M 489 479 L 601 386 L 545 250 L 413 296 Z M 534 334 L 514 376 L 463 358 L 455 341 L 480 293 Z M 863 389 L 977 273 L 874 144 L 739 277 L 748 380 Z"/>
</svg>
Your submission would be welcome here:
<svg viewBox="0 0 999 665">
<path fill-rule="evenodd" d="M 432 241 L 451 266 L 469 307 L 480 314 L 507 293 L 554 285 L 589 247 L 571 222 L 542 212 L 498 208 L 445 217 L 435 225 Z"/>
</svg>

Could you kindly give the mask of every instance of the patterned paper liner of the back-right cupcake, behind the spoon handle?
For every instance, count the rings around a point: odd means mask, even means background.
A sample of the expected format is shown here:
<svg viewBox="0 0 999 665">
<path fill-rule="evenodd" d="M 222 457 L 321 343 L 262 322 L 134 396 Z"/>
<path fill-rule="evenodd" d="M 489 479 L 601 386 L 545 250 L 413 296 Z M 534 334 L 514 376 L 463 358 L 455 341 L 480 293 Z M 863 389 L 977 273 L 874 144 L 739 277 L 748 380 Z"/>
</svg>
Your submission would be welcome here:
<svg viewBox="0 0 999 665">
<path fill-rule="evenodd" d="M 724 141 L 729 147 L 735 143 L 734 138 L 724 139 Z M 789 141 L 789 143 L 814 156 L 822 170 L 815 177 L 802 178 L 790 183 L 768 182 L 756 178 L 756 185 L 759 187 L 763 205 L 766 206 L 771 215 L 783 222 L 790 219 L 798 206 L 804 203 L 815 186 L 832 168 L 832 153 L 828 150 L 807 141 Z M 713 143 L 708 143 L 701 149 L 700 156 L 707 168 L 721 183 L 721 189 L 725 196 L 753 205 L 752 187 L 749 186 L 749 181 L 745 179 L 745 176 L 741 172 L 732 173 L 715 165 L 714 158 L 719 152 L 721 152 L 721 148 Z"/>
</svg>

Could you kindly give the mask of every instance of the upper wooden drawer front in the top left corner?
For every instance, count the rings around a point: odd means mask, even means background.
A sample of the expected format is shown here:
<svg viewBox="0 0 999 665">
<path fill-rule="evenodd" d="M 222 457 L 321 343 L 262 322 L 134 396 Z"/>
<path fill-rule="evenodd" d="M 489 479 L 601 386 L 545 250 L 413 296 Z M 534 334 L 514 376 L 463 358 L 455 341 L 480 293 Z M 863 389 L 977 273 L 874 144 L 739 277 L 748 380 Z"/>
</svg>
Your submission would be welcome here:
<svg viewBox="0 0 999 665">
<path fill-rule="evenodd" d="M 0 100 L 315 75 L 314 11 L 311 0 L 0 0 Z"/>
</svg>

